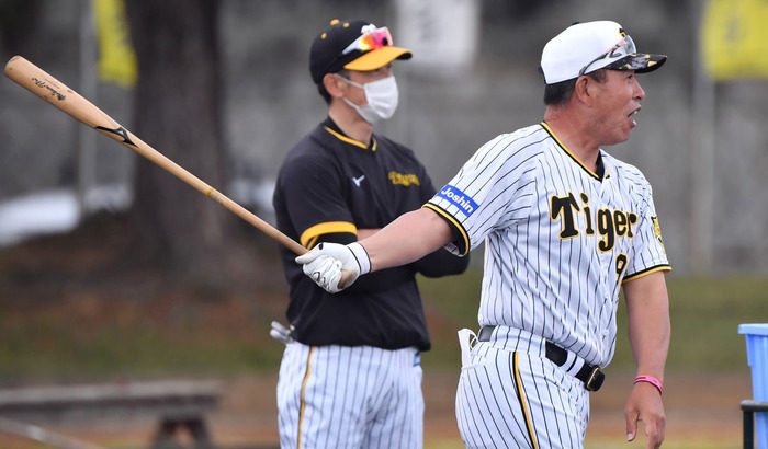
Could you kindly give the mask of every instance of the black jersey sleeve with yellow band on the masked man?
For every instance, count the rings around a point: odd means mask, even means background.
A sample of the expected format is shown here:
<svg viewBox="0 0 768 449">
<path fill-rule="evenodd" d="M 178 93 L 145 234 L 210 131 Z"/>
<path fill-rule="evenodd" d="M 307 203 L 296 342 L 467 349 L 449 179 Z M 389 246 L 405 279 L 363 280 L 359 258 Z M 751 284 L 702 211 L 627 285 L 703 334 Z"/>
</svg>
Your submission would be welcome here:
<svg viewBox="0 0 768 449">
<path fill-rule="evenodd" d="M 343 200 L 341 175 L 327 157 L 303 156 L 286 163 L 280 188 L 303 246 L 313 247 L 320 235 L 338 243 L 357 240 L 358 229 Z"/>
</svg>

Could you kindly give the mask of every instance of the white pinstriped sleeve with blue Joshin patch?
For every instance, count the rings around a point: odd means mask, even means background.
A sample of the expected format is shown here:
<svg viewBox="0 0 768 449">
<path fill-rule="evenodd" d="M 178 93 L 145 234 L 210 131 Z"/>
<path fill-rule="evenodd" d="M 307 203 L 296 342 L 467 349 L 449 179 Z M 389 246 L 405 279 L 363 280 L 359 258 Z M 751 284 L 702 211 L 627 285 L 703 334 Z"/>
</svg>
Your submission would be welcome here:
<svg viewBox="0 0 768 449">
<path fill-rule="evenodd" d="M 541 128 L 540 128 L 541 129 Z M 458 238 L 445 247 L 466 254 L 494 231 L 524 217 L 535 170 L 535 151 L 520 130 L 481 147 L 459 173 L 425 205 L 445 219 Z"/>
</svg>

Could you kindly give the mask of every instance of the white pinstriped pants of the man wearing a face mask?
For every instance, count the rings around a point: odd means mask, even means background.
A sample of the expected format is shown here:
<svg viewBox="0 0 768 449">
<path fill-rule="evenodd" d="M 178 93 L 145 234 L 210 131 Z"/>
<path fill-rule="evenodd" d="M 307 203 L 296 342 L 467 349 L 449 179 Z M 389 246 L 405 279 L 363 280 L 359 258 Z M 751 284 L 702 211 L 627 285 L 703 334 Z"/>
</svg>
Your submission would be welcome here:
<svg viewBox="0 0 768 449">
<path fill-rule="evenodd" d="M 290 343 L 278 381 L 281 448 L 421 448 L 415 348 Z"/>
</svg>

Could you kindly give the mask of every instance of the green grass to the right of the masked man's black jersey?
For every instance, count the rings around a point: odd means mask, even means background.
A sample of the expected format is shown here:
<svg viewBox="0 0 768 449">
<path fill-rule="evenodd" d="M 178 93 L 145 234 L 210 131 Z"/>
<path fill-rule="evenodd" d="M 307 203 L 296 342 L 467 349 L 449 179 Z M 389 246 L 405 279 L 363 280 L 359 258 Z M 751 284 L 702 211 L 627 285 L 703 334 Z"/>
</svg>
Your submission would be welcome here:
<svg viewBox="0 0 768 449">
<path fill-rule="evenodd" d="M 425 364 L 459 366 L 455 331 L 477 329 L 482 268 L 450 279 L 419 279 L 433 338 Z M 667 276 L 671 343 L 668 371 L 747 369 L 746 343 L 738 324 L 768 322 L 768 277 Z M 633 370 L 623 298 L 618 312 L 617 350 L 611 370 Z"/>
</svg>

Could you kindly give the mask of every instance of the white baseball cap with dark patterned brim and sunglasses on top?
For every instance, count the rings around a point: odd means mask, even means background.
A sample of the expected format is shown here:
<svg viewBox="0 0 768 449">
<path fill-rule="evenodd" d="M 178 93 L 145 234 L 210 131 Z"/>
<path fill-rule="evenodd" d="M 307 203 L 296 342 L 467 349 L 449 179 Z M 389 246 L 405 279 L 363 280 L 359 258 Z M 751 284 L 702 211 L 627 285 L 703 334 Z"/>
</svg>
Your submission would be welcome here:
<svg viewBox="0 0 768 449">
<path fill-rule="evenodd" d="M 666 55 L 637 53 L 620 24 L 596 21 L 575 23 L 547 42 L 541 70 L 546 83 L 554 84 L 603 68 L 650 72 L 666 60 Z"/>
</svg>

